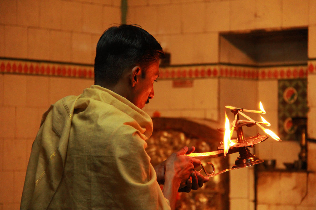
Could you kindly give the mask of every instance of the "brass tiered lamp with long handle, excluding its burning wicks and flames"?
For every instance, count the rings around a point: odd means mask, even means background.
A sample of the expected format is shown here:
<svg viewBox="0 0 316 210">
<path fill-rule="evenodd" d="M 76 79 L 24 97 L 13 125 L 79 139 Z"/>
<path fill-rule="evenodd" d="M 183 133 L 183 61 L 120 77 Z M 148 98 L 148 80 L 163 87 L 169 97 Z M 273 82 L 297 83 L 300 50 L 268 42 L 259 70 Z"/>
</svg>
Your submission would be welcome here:
<svg viewBox="0 0 316 210">
<path fill-rule="evenodd" d="M 242 126 L 244 126 L 244 125 L 247 126 L 248 123 L 238 124 L 238 120 L 239 120 L 238 110 L 236 110 L 236 111 L 232 110 L 232 112 L 234 115 L 237 115 L 236 124 L 233 125 L 234 130 L 237 132 L 237 139 L 231 140 L 234 143 L 234 145 L 229 147 L 227 154 L 239 152 L 239 156 L 237 157 L 237 159 L 235 160 L 235 164 L 231 168 L 222 170 L 218 173 L 215 173 L 215 167 L 212 163 L 210 163 L 210 162 L 207 163 L 213 167 L 213 171 L 211 173 L 208 173 L 205 170 L 205 167 L 203 166 L 203 164 L 201 164 L 201 167 L 202 167 L 204 173 L 207 175 L 206 177 L 209 177 L 209 178 L 214 177 L 218 174 L 221 174 L 221 173 L 233 170 L 233 169 L 244 168 L 244 167 L 248 167 L 248 166 L 252 166 L 252 165 L 264 162 L 264 160 L 261 160 L 255 154 L 252 154 L 247 147 L 253 147 L 255 144 L 258 144 L 258 143 L 268 139 L 268 135 L 260 135 L 258 133 L 256 136 L 248 137 L 245 139 L 244 134 L 243 134 L 243 130 L 242 130 Z M 224 130 L 218 129 L 218 131 L 224 131 Z M 223 150 L 223 145 L 221 144 L 220 146 L 218 146 L 217 151 L 203 152 L 203 153 L 191 153 L 191 154 L 185 154 L 185 155 L 202 160 L 202 159 L 206 159 L 206 158 L 215 158 L 215 157 L 224 156 L 224 150 Z"/>
</svg>

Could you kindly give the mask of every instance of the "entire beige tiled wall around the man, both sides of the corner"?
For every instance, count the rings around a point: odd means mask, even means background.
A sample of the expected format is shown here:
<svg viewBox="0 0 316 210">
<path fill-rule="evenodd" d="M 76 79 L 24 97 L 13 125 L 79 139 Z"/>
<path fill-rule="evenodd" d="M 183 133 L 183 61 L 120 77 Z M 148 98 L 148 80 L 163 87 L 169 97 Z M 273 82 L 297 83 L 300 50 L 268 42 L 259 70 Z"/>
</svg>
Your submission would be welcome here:
<svg viewBox="0 0 316 210">
<path fill-rule="evenodd" d="M 0 210 L 19 208 L 30 146 L 41 114 L 57 99 L 69 94 L 79 94 L 83 88 L 93 83 L 93 74 L 89 74 L 89 70 L 92 68 L 90 65 L 93 64 L 96 42 L 108 26 L 120 23 L 120 2 L 0 1 L 0 57 L 9 58 L 0 60 Z M 239 30 L 308 27 L 308 58 L 316 58 L 316 0 L 127 2 L 128 23 L 138 24 L 153 34 L 165 51 L 171 54 L 172 65 L 186 65 L 162 68 L 161 80 L 155 83 L 155 99 L 145 107 L 150 115 L 159 111 L 161 116 L 200 117 L 220 122 L 223 105 L 228 105 L 228 102 L 230 105 L 256 109 L 260 99 L 267 111 L 266 118 L 272 124 L 271 130 L 277 130 L 277 80 L 288 75 L 290 78 L 307 77 L 310 107 L 308 135 L 316 138 L 316 102 L 313 97 L 316 76 L 313 72 L 306 76 L 303 66 L 296 70 L 293 67 L 290 71 L 275 71 L 273 68 L 258 70 L 219 65 L 223 56 L 227 56 L 219 52 L 219 32 Z M 243 55 L 239 54 L 237 58 L 249 61 L 240 56 Z M 12 59 L 18 60 L 12 62 Z M 41 62 L 42 60 L 53 63 Z M 78 65 L 68 64 L 69 62 Z M 315 68 L 316 63 L 313 60 L 310 63 Z M 87 64 L 88 67 L 82 64 Z M 46 71 L 47 66 L 49 73 Z M 173 81 L 177 79 L 193 81 L 193 85 L 176 88 Z M 251 129 L 246 132 L 250 134 L 258 131 L 257 128 Z M 295 158 L 293 154 L 298 153 L 298 145 L 295 144 L 268 139 L 256 146 L 255 153 L 262 159 L 277 159 L 277 167 L 281 167 L 284 159 Z M 309 148 L 311 151 L 315 150 L 314 145 Z M 236 157 L 229 158 L 233 164 Z M 310 166 L 314 165 L 314 162 L 311 163 Z M 231 209 L 254 209 L 253 168 L 247 167 L 229 173 Z M 299 175 L 284 180 L 296 182 L 297 176 Z M 238 177 L 246 179 L 240 184 Z M 306 178 L 314 180 L 310 175 Z M 315 182 L 308 183 L 314 186 Z M 257 209 L 315 208 L 310 199 L 314 198 L 314 187 L 308 189 L 309 203 L 302 206 L 262 203 Z"/>
</svg>

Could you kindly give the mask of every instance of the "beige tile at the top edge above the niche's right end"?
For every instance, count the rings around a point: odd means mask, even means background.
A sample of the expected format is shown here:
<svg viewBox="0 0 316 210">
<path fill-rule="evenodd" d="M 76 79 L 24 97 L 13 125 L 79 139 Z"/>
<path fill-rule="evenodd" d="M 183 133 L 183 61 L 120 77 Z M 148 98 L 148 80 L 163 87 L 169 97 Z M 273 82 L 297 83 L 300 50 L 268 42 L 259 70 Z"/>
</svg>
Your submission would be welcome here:
<svg viewBox="0 0 316 210">
<path fill-rule="evenodd" d="M 283 27 L 308 25 L 308 1 L 283 1 L 282 11 Z"/>
</svg>

